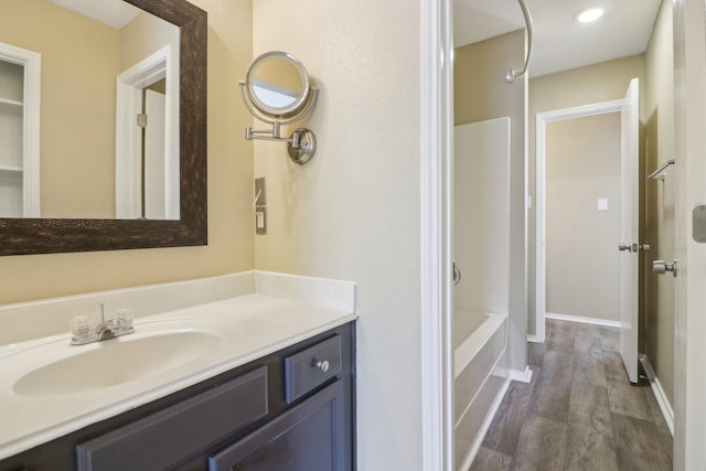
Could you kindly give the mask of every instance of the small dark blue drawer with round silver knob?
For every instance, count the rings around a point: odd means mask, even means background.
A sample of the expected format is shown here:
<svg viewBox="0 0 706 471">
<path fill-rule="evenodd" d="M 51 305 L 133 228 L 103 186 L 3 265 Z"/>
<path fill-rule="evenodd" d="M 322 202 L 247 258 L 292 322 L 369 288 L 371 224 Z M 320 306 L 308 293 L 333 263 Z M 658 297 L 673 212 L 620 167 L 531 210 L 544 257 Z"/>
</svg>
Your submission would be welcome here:
<svg viewBox="0 0 706 471">
<path fill-rule="evenodd" d="M 341 335 L 285 358 L 285 390 L 290 404 L 341 373 Z"/>
</svg>

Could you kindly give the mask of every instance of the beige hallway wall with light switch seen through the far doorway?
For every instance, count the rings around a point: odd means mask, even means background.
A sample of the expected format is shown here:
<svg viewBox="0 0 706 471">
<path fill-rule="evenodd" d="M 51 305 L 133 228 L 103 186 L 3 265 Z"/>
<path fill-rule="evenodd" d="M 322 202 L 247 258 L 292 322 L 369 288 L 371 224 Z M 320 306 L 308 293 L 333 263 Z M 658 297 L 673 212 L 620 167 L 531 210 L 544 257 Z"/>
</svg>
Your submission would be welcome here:
<svg viewBox="0 0 706 471">
<path fill-rule="evenodd" d="M 546 311 L 619 321 L 620 113 L 548 122 L 546 146 Z"/>
</svg>

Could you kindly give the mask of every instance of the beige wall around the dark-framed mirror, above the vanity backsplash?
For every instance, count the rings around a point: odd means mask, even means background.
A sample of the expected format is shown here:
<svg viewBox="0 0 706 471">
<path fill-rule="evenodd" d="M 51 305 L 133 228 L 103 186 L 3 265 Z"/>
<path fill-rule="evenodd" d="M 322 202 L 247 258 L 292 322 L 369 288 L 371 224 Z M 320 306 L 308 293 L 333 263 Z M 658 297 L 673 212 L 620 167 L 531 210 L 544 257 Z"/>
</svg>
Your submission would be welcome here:
<svg viewBox="0 0 706 471">
<path fill-rule="evenodd" d="M 208 12 L 208 245 L 1 257 L 0 303 L 254 267 L 253 150 L 240 132 L 252 119 L 238 100 L 236 86 L 252 60 L 252 3 L 192 2 Z"/>
</svg>

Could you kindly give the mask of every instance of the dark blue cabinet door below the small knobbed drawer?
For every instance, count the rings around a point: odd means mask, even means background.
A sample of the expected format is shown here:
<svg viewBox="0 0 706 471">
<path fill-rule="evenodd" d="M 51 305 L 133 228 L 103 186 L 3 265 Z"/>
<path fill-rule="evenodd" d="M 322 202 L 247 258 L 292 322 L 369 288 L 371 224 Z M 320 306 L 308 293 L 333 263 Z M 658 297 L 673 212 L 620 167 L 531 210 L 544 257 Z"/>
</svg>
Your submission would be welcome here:
<svg viewBox="0 0 706 471">
<path fill-rule="evenodd" d="M 344 386 L 331 386 L 208 459 L 210 471 L 350 471 Z"/>
</svg>

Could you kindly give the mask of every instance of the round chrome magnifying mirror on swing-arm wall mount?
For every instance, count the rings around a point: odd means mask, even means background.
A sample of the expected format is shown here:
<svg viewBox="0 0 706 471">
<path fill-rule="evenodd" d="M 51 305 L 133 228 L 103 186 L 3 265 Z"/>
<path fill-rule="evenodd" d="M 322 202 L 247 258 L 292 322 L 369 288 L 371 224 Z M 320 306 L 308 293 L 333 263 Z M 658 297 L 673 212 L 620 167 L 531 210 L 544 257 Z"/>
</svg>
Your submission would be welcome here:
<svg viewBox="0 0 706 471">
<path fill-rule="evenodd" d="M 289 158 L 307 163 L 317 151 L 317 137 L 310 129 L 296 129 L 281 137 L 281 127 L 306 118 L 317 106 L 319 90 L 312 86 L 307 69 L 293 55 L 272 51 L 250 64 L 240 81 L 240 98 L 247 110 L 271 129 L 245 129 L 245 139 L 287 142 Z"/>
</svg>

